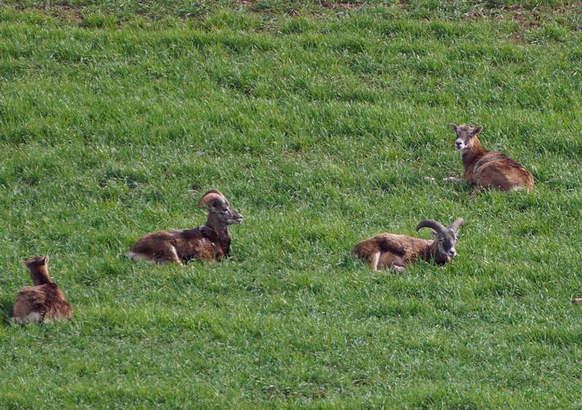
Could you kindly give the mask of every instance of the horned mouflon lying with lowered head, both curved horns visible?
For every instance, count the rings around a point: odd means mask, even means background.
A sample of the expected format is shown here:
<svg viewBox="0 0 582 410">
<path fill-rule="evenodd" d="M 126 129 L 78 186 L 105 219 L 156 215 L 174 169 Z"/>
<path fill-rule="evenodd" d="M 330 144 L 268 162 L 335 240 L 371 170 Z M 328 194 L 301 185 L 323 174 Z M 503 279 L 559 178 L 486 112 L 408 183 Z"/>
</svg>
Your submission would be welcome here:
<svg viewBox="0 0 582 410">
<path fill-rule="evenodd" d="M 457 251 L 457 230 L 464 225 L 462 218 L 455 219 L 451 227 L 444 227 L 433 219 L 418 222 L 416 231 L 420 228 L 431 228 L 434 240 L 424 240 L 407 235 L 380 233 L 372 238 L 359 242 L 353 252 L 375 272 L 390 268 L 398 273 L 405 271 L 405 266 L 414 264 L 417 259 L 434 261 L 444 265 L 451 261 Z"/>
</svg>

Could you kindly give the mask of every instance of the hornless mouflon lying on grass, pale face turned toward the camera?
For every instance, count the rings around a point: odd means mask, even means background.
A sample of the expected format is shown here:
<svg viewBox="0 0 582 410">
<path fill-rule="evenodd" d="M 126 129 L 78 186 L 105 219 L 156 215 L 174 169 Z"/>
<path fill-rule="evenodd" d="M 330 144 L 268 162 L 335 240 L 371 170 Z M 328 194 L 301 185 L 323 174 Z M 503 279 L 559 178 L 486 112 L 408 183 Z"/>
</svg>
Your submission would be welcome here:
<svg viewBox="0 0 582 410">
<path fill-rule="evenodd" d="M 456 146 L 461 151 L 464 179 L 472 188 L 502 191 L 529 191 L 533 188 L 533 175 L 524 166 L 503 153 L 487 151 L 481 146 L 477 134 L 483 127 L 473 128 L 467 124 L 457 126 L 453 123 L 451 127 L 457 133 Z"/>
</svg>

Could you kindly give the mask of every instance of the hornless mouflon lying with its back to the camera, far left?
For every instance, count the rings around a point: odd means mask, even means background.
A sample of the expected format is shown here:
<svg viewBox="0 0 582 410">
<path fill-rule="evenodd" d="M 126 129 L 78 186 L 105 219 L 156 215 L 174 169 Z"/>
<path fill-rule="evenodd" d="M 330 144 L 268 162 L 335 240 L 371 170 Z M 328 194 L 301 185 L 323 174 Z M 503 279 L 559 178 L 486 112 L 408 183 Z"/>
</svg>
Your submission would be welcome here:
<svg viewBox="0 0 582 410">
<path fill-rule="evenodd" d="M 47 264 L 49 257 L 31 257 L 23 264 L 30 270 L 33 286 L 25 286 L 16 296 L 12 309 L 12 322 L 49 322 L 70 319 L 71 305 L 65 300 L 64 292 L 49 277 Z"/>
</svg>

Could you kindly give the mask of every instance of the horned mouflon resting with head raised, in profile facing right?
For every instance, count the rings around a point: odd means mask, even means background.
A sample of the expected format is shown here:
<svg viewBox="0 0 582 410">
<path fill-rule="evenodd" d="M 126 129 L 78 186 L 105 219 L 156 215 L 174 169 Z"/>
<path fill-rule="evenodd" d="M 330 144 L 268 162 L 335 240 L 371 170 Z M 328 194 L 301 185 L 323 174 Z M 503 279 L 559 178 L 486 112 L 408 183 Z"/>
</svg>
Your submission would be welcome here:
<svg viewBox="0 0 582 410">
<path fill-rule="evenodd" d="M 207 205 L 206 225 L 192 229 L 147 233 L 129 248 L 131 259 L 157 264 L 185 264 L 190 259 L 220 261 L 230 251 L 231 238 L 227 226 L 242 221 L 227 198 L 217 190 L 206 192 L 200 207 Z"/>
</svg>

